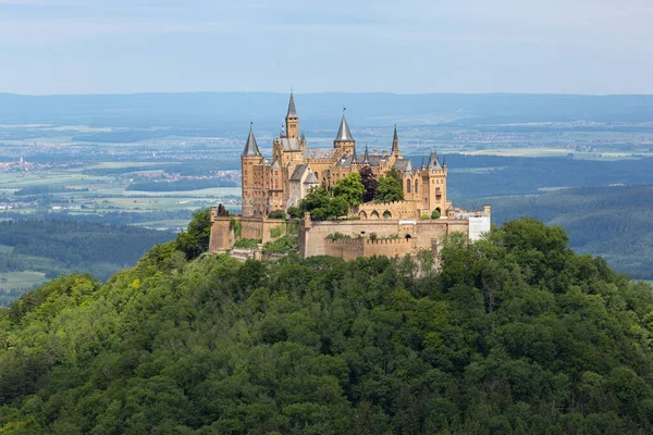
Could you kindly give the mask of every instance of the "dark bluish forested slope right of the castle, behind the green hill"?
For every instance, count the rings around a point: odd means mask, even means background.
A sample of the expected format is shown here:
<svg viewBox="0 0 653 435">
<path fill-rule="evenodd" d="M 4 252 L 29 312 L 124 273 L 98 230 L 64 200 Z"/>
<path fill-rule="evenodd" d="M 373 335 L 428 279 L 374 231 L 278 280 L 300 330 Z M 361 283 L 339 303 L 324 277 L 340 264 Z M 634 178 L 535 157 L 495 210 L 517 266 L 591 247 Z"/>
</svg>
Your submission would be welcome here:
<svg viewBox="0 0 653 435">
<path fill-rule="evenodd" d="M 653 279 L 653 185 L 562 189 L 541 196 L 458 200 L 492 204 L 492 221 L 530 215 L 568 233 L 576 251 L 605 258 L 630 276 Z"/>
</svg>

